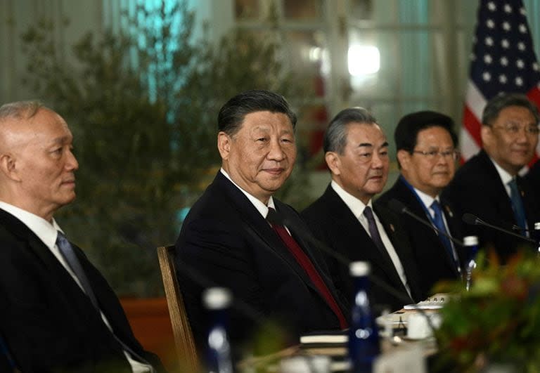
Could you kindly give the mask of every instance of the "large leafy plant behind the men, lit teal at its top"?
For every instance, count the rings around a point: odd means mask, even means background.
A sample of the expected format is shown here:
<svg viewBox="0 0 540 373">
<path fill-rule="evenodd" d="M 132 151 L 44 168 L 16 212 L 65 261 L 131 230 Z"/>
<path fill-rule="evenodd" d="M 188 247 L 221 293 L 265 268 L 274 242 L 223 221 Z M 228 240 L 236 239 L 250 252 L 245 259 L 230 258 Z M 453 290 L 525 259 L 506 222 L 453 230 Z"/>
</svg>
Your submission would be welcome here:
<svg viewBox="0 0 540 373">
<path fill-rule="evenodd" d="M 215 46 L 194 40 L 186 1 L 167 4 L 140 5 L 120 32 L 89 32 L 67 57 L 54 39 L 65 25 L 42 20 L 23 34 L 25 84 L 75 137 L 77 200 L 57 219 L 122 295 L 162 294 L 155 247 L 176 240 L 217 171 L 220 105 L 254 88 L 309 96 L 278 42 L 239 31 Z"/>
</svg>

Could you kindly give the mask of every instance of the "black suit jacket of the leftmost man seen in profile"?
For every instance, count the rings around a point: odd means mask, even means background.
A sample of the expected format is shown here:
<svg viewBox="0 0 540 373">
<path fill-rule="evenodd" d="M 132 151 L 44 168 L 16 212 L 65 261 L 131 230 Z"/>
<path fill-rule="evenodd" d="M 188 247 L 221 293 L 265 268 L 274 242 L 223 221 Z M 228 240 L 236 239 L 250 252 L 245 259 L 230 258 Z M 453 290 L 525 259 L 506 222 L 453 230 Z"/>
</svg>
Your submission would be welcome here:
<svg viewBox="0 0 540 373">
<path fill-rule="evenodd" d="M 27 226 L 0 209 L 0 334 L 22 372 L 131 372 L 88 296 Z M 154 367 L 105 278 L 73 245 L 115 334 Z"/>
</svg>

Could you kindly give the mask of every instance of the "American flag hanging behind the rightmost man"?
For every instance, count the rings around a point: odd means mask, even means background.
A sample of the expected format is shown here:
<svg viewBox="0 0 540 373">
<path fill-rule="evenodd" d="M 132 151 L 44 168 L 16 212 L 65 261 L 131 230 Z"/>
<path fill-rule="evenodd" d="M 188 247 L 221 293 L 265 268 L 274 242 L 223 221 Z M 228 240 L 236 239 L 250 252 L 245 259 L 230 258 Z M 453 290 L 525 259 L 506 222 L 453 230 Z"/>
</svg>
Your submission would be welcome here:
<svg viewBox="0 0 540 373">
<path fill-rule="evenodd" d="M 477 22 L 461 129 L 462 161 L 480 150 L 482 111 L 490 98 L 499 92 L 525 93 L 540 107 L 539 64 L 522 0 L 481 0 Z"/>
</svg>

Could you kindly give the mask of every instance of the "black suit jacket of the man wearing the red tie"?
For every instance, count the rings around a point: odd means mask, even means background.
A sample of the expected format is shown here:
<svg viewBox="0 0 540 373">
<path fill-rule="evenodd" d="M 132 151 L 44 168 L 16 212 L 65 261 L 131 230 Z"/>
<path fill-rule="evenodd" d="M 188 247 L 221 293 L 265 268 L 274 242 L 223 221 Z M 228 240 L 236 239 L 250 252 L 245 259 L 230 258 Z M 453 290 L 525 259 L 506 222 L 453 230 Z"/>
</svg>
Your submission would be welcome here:
<svg viewBox="0 0 540 373">
<path fill-rule="evenodd" d="M 303 238 L 309 229 L 293 208 L 277 199 L 274 203 L 346 316 L 347 307 L 340 302 L 321 255 Z M 269 321 L 283 327 L 289 343 L 298 343 L 303 332 L 340 327 L 280 237 L 221 172 L 186 216 L 176 251 L 179 282 L 200 349 L 206 348 L 208 327 L 201 292 L 209 286 L 227 287 L 233 293 L 229 334 L 234 346 L 248 343 Z"/>
</svg>

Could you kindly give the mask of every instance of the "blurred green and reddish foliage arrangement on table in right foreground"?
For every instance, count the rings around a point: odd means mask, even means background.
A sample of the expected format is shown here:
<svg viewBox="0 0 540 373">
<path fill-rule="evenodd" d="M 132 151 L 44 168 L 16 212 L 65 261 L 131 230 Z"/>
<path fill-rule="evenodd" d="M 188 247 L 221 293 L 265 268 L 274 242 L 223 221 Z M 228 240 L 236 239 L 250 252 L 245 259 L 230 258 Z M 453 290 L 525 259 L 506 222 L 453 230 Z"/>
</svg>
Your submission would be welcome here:
<svg viewBox="0 0 540 373">
<path fill-rule="evenodd" d="M 467 292 L 461 282 L 442 283 L 437 292 L 456 294 L 442 309 L 437 331 L 441 362 L 460 372 L 480 372 L 506 363 L 519 372 L 540 371 L 540 266 L 529 253 L 499 266 L 495 254 L 480 255 Z"/>
</svg>

